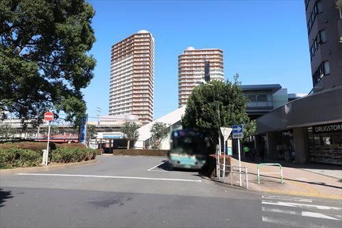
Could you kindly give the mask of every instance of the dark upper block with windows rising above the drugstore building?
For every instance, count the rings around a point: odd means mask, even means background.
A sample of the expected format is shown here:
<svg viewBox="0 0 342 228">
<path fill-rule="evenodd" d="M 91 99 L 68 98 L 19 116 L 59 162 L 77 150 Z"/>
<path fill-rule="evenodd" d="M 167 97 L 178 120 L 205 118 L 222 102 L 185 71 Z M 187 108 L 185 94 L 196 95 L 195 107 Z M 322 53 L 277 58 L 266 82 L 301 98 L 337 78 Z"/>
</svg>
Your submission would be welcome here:
<svg viewBox="0 0 342 228">
<path fill-rule="evenodd" d="M 342 85 L 342 0 L 304 0 L 312 92 Z"/>
</svg>

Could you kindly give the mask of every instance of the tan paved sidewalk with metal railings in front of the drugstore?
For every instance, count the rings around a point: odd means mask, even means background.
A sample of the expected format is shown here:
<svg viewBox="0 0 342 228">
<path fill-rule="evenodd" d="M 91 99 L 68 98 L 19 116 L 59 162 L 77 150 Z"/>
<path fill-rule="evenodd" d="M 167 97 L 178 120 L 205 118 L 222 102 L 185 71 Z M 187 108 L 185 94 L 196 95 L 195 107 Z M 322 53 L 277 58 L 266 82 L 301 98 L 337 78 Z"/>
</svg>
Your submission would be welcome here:
<svg viewBox="0 0 342 228">
<path fill-rule="evenodd" d="M 232 158 L 233 166 L 238 166 L 239 161 Z M 261 181 L 257 181 L 257 164 L 260 162 L 242 162 L 241 166 L 248 168 L 248 183 L 249 190 L 259 192 L 271 192 L 276 194 L 293 194 L 304 197 L 323 197 L 330 199 L 342 200 L 342 177 L 334 177 L 338 175 L 340 170 L 336 168 L 333 170 L 332 176 L 326 175 L 331 173 L 329 170 L 318 169 L 319 171 L 310 168 L 307 165 L 302 166 L 292 164 L 291 167 L 285 164 L 283 166 L 284 183 L 280 183 L 280 174 L 261 174 Z M 287 167 L 286 167 L 287 166 Z M 315 166 L 315 164 L 313 164 Z M 299 168 L 300 167 L 300 168 Z M 321 175 L 321 171 L 326 171 Z M 260 172 L 276 173 L 279 172 L 278 166 L 261 166 Z M 239 185 L 239 174 L 234 173 L 234 185 Z M 226 178 L 227 182 L 231 184 L 231 178 Z M 242 184 L 246 186 L 245 176 L 242 175 Z"/>
</svg>

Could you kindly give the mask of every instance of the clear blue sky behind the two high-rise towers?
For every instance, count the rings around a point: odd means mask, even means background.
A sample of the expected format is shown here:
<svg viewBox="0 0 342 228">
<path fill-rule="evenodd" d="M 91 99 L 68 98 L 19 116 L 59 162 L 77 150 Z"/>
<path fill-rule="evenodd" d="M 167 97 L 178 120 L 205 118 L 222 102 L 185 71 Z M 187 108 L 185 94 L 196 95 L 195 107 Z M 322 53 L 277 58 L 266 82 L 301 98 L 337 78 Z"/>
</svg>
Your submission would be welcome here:
<svg viewBox="0 0 342 228">
<path fill-rule="evenodd" d="M 224 77 L 242 84 L 280 84 L 289 93 L 312 87 L 304 1 L 98 1 L 92 26 L 97 61 L 83 90 L 89 116 L 108 114 L 110 49 L 140 29 L 155 37 L 155 110 L 178 107 L 178 55 L 186 47 L 224 51 Z M 91 120 L 91 119 L 90 119 Z"/>
</svg>

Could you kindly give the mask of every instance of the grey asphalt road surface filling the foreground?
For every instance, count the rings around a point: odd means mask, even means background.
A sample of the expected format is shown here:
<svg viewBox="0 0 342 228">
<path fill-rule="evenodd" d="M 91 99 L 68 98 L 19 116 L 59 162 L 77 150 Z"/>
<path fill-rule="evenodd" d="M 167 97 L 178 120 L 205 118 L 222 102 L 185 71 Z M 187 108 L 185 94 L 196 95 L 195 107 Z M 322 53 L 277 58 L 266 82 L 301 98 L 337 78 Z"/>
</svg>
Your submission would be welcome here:
<svg viewBox="0 0 342 228">
<path fill-rule="evenodd" d="M 342 227 L 341 201 L 237 190 L 164 159 L 2 175 L 0 227 Z"/>
</svg>

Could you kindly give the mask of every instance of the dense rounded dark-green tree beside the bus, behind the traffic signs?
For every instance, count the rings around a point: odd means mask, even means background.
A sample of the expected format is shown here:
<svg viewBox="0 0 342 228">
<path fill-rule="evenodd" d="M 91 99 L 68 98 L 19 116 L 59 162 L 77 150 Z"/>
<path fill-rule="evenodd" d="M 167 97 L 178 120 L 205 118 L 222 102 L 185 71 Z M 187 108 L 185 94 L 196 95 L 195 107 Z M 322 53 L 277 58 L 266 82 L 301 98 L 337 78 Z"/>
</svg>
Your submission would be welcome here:
<svg viewBox="0 0 342 228">
<path fill-rule="evenodd" d="M 218 143 L 220 127 L 244 124 L 250 130 L 247 99 L 238 78 L 239 75 L 235 75 L 233 82 L 211 81 L 194 88 L 182 118 L 183 127 L 206 132 L 214 144 Z"/>
</svg>

